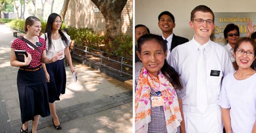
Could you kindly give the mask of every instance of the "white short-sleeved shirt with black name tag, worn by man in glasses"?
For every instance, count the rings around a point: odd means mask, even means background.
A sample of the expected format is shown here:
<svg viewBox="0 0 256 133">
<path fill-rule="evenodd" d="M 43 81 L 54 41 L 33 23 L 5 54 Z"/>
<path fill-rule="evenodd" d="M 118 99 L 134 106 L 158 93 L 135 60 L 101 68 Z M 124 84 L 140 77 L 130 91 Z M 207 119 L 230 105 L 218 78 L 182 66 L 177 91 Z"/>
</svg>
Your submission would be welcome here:
<svg viewBox="0 0 256 133">
<path fill-rule="evenodd" d="M 219 98 L 221 79 L 234 68 L 227 51 L 219 44 L 209 39 L 205 44 L 206 87 L 208 105 L 216 104 Z M 170 53 L 168 64 L 173 66 L 181 75 L 185 83 L 186 97 L 182 99 L 183 105 L 197 106 L 197 62 L 200 44 L 194 39 L 179 45 Z M 219 76 L 210 76 L 211 73 Z M 218 75 L 218 74 L 217 74 Z"/>
</svg>

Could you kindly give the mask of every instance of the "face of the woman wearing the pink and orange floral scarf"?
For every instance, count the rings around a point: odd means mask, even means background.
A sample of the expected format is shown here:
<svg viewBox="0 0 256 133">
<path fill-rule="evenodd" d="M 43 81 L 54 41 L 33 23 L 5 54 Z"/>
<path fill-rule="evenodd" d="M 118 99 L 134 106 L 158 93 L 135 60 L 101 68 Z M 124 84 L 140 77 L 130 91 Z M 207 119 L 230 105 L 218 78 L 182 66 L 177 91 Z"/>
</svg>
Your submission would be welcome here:
<svg viewBox="0 0 256 133">
<path fill-rule="evenodd" d="M 157 77 L 159 70 L 163 67 L 167 52 L 163 51 L 162 46 L 156 40 L 145 41 L 141 45 L 141 51 L 136 52 L 142 61 L 145 69 Z"/>
</svg>

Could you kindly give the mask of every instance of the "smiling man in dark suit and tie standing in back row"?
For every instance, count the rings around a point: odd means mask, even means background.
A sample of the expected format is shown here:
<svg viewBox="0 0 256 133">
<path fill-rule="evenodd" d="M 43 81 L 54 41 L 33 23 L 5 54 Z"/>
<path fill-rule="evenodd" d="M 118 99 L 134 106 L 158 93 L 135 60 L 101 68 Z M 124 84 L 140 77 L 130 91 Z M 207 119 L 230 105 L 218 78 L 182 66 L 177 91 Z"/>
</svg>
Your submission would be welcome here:
<svg viewBox="0 0 256 133">
<path fill-rule="evenodd" d="M 175 28 L 174 15 L 168 11 L 164 11 L 158 16 L 158 26 L 162 30 L 162 37 L 167 42 L 167 62 L 170 52 L 178 45 L 188 42 L 187 38 L 176 36 L 173 34 L 173 29 Z"/>
</svg>

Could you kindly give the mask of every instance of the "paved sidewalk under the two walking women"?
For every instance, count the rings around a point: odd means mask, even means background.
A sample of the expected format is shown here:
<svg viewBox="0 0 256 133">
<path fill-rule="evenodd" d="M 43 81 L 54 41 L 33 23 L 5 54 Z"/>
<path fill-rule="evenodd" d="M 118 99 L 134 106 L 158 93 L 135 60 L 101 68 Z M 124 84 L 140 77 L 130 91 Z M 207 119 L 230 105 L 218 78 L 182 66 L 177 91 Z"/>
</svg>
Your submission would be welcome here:
<svg viewBox="0 0 256 133">
<path fill-rule="evenodd" d="M 10 66 L 10 29 L 0 25 L 0 132 L 19 132 L 22 125 L 17 67 Z M 56 102 L 62 130 L 56 130 L 52 117 L 40 118 L 38 132 L 132 132 L 132 87 L 73 61 L 78 71 L 74 83 L 66 67 L 66 94 Z M 31 130 L 31 121 L 29 122 Z"/>
</svg>

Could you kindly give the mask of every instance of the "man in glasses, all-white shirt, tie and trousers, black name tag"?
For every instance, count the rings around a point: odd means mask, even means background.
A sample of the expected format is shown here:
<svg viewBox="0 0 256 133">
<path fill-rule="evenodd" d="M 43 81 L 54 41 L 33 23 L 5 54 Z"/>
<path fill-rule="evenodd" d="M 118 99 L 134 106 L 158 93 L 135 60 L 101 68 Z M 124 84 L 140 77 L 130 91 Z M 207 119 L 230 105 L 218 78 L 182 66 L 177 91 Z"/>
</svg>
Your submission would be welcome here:
<svg viewBox="0 0 256 133">
<path fill-rule="evenodd" d="M 170 65 L 185 83 L 182 107 L 186 132 L 223 132 L 221 108 L 217 104 L 222 77 L 234 68 L 227 51 L 210 40 L 214 13 L 204 5 L 191 11 L 192 40 L 173 49 Z"/>
</svg>

